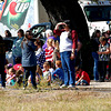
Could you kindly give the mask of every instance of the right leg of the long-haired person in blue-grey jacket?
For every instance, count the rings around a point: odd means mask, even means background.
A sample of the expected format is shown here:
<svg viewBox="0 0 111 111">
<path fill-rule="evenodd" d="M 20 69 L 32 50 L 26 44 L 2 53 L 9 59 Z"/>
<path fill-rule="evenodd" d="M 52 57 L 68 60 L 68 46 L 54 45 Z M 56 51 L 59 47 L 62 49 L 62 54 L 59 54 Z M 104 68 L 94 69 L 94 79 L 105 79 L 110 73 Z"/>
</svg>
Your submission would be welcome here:
<svg viewBox="0 0 111 111">
<path fill-rule="evenodd" d="M 30 69 L 30 74 L 31 74 L 31 83 L 33 85 L 34 89 L 37 89 L 37 83 L 36 83 L 36 70 L 37 70 L 37 67 L 32 67 Z"/>
</svg>

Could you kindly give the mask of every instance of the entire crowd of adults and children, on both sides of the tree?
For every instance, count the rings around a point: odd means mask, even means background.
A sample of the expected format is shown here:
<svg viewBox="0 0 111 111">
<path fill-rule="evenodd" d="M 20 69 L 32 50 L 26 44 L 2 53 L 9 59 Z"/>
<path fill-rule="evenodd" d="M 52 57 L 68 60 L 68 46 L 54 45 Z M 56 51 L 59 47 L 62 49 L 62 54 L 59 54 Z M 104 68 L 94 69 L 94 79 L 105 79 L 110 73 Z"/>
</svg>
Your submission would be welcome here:
<svg viewBox="0 0 111 111">
<path fill-rule="evenodd" d="M 110 31 L 101 33 L 100 30 L 95 30 L 91 37 L 94 81 L 104 82 L 105 79 L 110 79 Z M 33 41 L 31 30 L 24 33 L 20 29 L 12 46 L 13 63 L 4 60 L 4 52 L 0 51 L 0 63 L 2 63 L 0 65 L 4 65 L 0 68 L 0 72 L 3 73 L 1 74 L 3 88 L 23 83 L 26 89 L 32 83 L 33 89 L 37 89 L 42 80 L 47 85 L 59 81 L 61 89 L 90 84 L 90 77 L 82 70 L 79 60 L 82 43 L 77 31 L 71 29 L 70 21 L 59 22 L 53 31 L 46 30 L 46 37 L 44 43 L 40 39 Z M 2 40 L 0 42 L 3 46 Z M 79 61 L 78 67 L 75 67 L 77 61 Z"/>
</svg>

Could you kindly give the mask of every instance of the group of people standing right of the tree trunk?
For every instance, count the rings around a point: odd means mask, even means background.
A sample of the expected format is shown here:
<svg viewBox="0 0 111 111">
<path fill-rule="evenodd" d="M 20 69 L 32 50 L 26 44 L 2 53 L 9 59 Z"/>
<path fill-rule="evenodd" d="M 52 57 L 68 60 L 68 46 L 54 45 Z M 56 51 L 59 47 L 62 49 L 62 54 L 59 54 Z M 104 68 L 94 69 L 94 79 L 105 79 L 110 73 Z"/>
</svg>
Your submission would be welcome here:
<svg viewBox="0 0 111 111">
<path fill-rule="evenodd" d="M 91 38 L 92 57 L 94 60 L 93 77 L 104 82 L 111 79 L 111 31 L 95 30 Z"/>
</svg>

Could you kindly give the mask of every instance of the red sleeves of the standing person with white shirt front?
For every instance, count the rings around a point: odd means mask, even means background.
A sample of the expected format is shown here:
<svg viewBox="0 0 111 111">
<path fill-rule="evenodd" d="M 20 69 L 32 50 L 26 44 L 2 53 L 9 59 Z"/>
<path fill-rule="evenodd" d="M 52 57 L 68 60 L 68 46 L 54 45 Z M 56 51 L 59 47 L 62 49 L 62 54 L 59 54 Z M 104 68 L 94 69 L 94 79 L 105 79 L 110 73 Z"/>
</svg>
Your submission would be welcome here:
<svg viewBox="0 0 111 111">
<path fill-rule="evenodd" d="M 61 32 L 63 32 L 64 30 L 53 30 L 53 32 L 57 34 L 57 36 L 60 36 Z M 72 37 L 72 49 L 77 49 L 77 43 L 78 43 L 78 33 L 75 30 L 72 30 L 71 31 L 71 37 Z"/>
</svg>

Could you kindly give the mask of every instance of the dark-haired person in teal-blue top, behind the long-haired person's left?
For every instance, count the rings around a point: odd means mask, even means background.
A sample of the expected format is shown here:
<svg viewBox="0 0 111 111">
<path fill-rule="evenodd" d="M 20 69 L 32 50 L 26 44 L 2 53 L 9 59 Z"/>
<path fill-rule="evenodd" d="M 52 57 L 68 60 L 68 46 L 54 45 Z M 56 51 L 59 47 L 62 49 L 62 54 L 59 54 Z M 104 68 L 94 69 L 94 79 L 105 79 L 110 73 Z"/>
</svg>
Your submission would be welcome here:
<svg viewBox="0 0 111 111">
<path fill-rule="evenodd" d="M 13 41 L 13 46 L 12 46 L 12 58 L 13 58 L 13 64 L 16 64 L 16 58 L 20 58 L 22 57 L 21 54 L 21 42 L 24 38 L 24 31 L 22 29 L 20 29 L 18 31 L 18 38 Z"/>
</svg>

